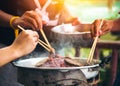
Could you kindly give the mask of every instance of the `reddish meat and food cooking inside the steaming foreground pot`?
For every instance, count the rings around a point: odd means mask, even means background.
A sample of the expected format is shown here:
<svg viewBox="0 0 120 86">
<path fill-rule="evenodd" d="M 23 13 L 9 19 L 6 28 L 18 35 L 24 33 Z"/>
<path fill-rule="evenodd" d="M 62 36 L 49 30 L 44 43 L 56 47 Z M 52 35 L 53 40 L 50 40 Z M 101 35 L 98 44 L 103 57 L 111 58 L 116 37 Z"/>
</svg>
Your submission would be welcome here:
<svg viewBox="0 0 120 86">
<path fill-rule="evenodd" d="M 54 57 L 49 56 L 42 61 L 39 61 L 36 67 L 80 67 L 89 66 L 99 63 L 98 61 L 93 61 L 92 64 L 88 64 L 85 59 L 72 59 L 70 57 L 62 57 L 55 55 Z"/>
</svg>

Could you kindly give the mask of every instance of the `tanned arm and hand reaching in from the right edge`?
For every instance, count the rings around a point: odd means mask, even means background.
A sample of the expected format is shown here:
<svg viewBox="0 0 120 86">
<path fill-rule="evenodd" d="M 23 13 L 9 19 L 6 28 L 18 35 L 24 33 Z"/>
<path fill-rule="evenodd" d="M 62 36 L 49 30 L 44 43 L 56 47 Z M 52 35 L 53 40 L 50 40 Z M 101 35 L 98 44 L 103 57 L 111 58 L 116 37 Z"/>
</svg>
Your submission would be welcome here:
<svg viewBox="0 0 120 86">
<path fill-rule="evenodd" d="M 103 20 L 102 27 L 100 31 L 98 31 L 100 23 L 101 19 L 97 19 L 92 23 L 92 28 L 90 28 L 90 31 L 93 37 L 97 35 L 97 32 L 99 35 L 103 35 L 108 32 L 120 32 L 120 18 L 115 20 Z"/>
</svg>

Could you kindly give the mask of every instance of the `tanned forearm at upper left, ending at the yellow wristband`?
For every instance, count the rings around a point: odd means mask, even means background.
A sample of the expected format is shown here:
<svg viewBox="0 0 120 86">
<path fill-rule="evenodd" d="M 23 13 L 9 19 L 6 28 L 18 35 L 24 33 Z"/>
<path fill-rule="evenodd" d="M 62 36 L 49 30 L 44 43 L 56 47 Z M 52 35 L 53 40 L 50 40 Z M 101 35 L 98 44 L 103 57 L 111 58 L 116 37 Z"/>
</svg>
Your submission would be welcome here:
<svg viewBox="0 0 120 86">
<path fill-rule="evenodd" d="M 10 19 L 13 16 L 0 10 L 0 26 L 10 27 Z"/>
</svg>

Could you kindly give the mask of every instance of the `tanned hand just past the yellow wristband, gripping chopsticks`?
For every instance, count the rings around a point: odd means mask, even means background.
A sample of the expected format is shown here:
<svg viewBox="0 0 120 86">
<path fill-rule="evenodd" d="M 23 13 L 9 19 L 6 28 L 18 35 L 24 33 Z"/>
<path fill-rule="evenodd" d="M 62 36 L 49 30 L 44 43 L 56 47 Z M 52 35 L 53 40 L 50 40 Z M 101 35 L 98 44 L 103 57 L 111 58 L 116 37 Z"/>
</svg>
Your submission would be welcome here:
<svg viewBox="0 0 120 86">
<path fill-rule="evenodd" d="M 20 18 L 12 22 L 14 27 L 20 25 L 24 28 L 32 28 L 33 30 L 39 30 L 42 28 L 42 24 L 42 17 L 36 11 L 26 11 Z"/>
</svg>

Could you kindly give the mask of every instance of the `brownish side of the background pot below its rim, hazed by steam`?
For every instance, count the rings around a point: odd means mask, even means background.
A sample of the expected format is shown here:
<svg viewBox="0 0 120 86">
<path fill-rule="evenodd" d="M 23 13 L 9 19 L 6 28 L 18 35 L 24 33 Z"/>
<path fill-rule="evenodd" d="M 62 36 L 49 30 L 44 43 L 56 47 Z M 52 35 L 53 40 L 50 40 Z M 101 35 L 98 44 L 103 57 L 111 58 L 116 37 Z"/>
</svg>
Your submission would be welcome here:
<svg viewBox="0 0 120 86">
<path fill-rule="evenodd" d="M 64 47 L 87 47 L 93 41 L 90 36 L 89 32 L 79 32 L 77 34 L 51 33 L 51 38 L 53 39 L 52 45 L 56 49 Z"/>
</svg>

